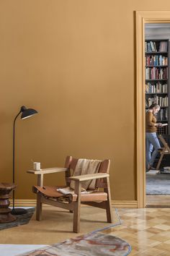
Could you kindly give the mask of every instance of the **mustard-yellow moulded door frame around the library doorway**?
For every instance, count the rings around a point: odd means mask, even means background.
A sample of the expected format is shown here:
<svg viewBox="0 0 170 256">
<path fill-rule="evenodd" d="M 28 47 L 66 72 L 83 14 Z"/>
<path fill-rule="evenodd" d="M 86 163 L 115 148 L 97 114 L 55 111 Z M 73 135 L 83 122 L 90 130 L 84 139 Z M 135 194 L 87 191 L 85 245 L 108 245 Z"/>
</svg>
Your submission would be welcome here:
<svg viewBox="0 0 170 256">
<path fill-rule="evenodd" d="M 146 207 L 145 24 L 170 23 L 170 11 L 135 12 L 136 170 L 138 208 Z"/>
</svg>

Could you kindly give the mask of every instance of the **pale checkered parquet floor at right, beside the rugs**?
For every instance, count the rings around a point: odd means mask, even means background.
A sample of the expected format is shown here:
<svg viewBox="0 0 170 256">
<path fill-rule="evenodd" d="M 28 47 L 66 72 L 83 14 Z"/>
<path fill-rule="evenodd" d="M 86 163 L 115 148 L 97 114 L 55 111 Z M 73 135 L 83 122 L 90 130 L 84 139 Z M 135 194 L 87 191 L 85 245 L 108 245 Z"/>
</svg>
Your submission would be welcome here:
<svg viewBox="0 0 170 256">
<path fill-rule="evenodd" d="M 170 209 L 118 209 L 122 225 L 112 233 L 125 239 L 132 247 L 135 256 L 170 256 Z"/>
</svg>

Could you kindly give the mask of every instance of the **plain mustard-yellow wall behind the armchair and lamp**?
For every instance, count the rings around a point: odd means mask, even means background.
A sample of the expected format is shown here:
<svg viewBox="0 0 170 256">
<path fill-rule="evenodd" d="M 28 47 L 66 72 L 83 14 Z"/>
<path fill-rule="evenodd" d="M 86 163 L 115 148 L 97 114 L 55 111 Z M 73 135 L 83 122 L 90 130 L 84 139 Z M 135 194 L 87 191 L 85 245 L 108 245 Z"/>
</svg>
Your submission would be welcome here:
<svg viewBox="0 0 170 256">
<path fill-rule="evenodd" d="M 33 161 L 63 166 L 66 155 L 110 158 L 113 200 L 136 200 L 135 10 L 170 2 L 0 0 L 1 182 L 12 182 L 17 119 L 17 199 L 33 199 Z M 61 175 L 45 184 L 61 184 Z"/>
</svg>

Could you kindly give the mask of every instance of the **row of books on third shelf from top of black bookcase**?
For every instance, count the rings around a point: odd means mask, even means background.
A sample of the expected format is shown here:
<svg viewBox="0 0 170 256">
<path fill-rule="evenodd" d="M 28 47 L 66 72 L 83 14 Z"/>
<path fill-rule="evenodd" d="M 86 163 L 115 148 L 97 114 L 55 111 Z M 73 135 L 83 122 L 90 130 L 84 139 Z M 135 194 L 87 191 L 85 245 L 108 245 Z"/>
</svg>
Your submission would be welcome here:
<svg viewBox="0 0 170 256">
<path fill-rule="evenodd" d="M 146 80 L 168 79 L 167 67 L 146 67 Z"/>
</svg>

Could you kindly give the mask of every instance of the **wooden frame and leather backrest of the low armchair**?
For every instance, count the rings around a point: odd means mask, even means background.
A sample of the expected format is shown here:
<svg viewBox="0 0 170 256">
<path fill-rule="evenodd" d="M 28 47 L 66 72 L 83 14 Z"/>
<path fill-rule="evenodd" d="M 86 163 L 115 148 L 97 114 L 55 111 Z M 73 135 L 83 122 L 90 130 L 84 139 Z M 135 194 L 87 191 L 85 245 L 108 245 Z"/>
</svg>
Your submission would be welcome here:
<svg viewBox="0 0 170 256">
<path fill-rule="evenodd" d="M 85 174 L 81 176 L 71 176 L 71 169 L 76 168 L 76 163 L 78 159 L 68 156 L 66 158 L 65 168 L 45 168 L 40 171 L 29 170 L 27 173 L 37 175 L 37 186 L 33 187 L 33 192 L 37 193 L 37 208 L 36 208 L 36 219 L 40 221 L 42 218 L 42 203 L 53 205 L 59 208 L 68 209 L 73 213 L 73 232 L 79 233 L 80 231 L 80 209 L 81 203 L 85 205 L 91 205 L 97 208 L 102 208 L 106 210 L 107 222 L 112 223 L 112 205 L 111 205 L 111 194 L 109 187 L 109 160 L 102 161 L 99 173 L 97 174 Z M 49 187 L 43 187 L 43 176 L 44 174 L 52 174 L 58 172 L 64 172 L 66 176 L 66 185 L 69 186 L 71 180 L 75 182 L 74 194 L 76 194 L 76 200 L 71 200 L 71 202 L 60 202 L 54 200 L 56 189 L 53 191 L 52 197 L 49 195 L 42 195 L 42 189 Z M 81 182 L 97 179 L 97 187 L 103 189 L 104 191 L 93 192 L 87 195 L 81 195 Z M 48 190 L 48 189 L 47 189 Z M 57 198 L 57 197 L 56 197 Z"/>
</svg>

